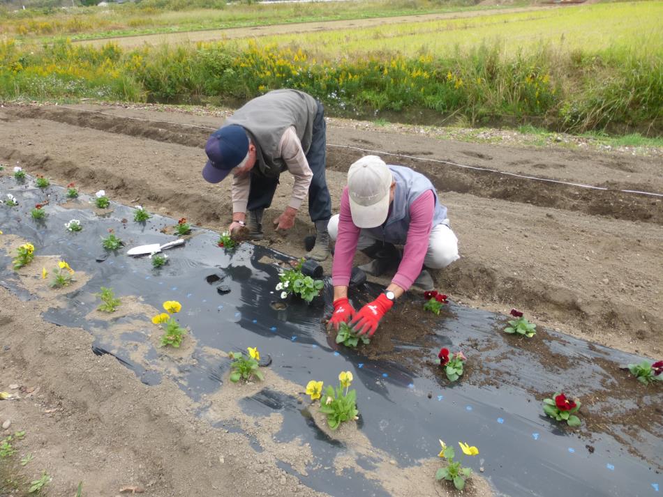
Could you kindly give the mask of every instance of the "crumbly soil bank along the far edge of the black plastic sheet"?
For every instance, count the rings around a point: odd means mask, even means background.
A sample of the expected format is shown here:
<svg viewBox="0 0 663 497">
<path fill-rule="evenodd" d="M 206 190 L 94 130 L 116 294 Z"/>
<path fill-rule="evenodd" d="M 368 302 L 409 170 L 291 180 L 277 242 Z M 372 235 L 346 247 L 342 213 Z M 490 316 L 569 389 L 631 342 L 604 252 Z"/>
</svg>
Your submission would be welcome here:
<svg viewBox="0 0 663 497">
<path fill-rule="evenodd" d="M 103 184 L 107 194 L 117 201 L 131 204 L 140 199 L 148 208 L 174 217 L 186 216 L 191 222 L 203 227 L 220 229 L 228 222 L 232 212 L 230 199 L 219 197 L 212 193 L 214 190 L 182 191 L 177 182 L 125 176 L 115 169 L 100 170 L 87 162 L 59 160 L 2 146 L 0 157 L 20 162 L 29 171 L 38 170 L 52 178 L 61 178 L 60 181 L 74 178 L 77 186 L 83 190 L 92 191 Z M 297 220 L 294 238 L 306 235 L 310 229 L 309 224 Z M 278 250 L 292 253 L 294 247 L 282 247 L 281 243 L 283 240 L 275 240 L 271 236 L 262 242 L 265 245 L 276 244 Z M 325 263 L 325 270 L 327 273 L 331 270 L 331 261 Z M 655 344 L 663 329 L 663 319 L 650 312 L 646 305 L 636 307 L 623 300 L 604 296 L 593 298 L 582 295 L 573 287 L 514 276 L 508 267 L 489 267 L 471 256 L 463 257 L 449 266 L 442 280 L 445 291 L 456 298 L 473 298 L 507 306 L 509 303 L 519 303 L 536 309 L 540 321 L 571 324 L 581 332 L 579 335 L 599 343 L 610 344 L 610 340 L 606 342 L 606 331 L 608 338 L 611 335 L 627 334 L 636 337 L 636 346 L 646 351 L 647 344 Z"/>
</svg>

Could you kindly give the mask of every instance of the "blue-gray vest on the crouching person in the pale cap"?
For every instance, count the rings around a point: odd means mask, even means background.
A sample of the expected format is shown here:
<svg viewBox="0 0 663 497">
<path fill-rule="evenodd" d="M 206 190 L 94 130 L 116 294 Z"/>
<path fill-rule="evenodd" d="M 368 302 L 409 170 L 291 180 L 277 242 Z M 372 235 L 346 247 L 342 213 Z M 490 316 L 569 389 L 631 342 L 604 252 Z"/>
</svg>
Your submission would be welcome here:
<svg viewBox="0 0 663 497">
<path fill-rule="evenodd" d="M 410 206 L 419 198 L 419 195 L 431 190 L 435 196 L 433 227 L 447 219 L 447 208 L 440 204 L 438 192 L 433 183 L 423 174 L 403 166 L 389 166 L 389 170 L 392 171 L 394 181 L 396 181 L 396 192 L 390 206 L 389 216 L 385 224 L 368 229 L 368 231 L 378 240 L 384 240 L 394 245 L 405 245 L 410 228 Z"/>
</svg>

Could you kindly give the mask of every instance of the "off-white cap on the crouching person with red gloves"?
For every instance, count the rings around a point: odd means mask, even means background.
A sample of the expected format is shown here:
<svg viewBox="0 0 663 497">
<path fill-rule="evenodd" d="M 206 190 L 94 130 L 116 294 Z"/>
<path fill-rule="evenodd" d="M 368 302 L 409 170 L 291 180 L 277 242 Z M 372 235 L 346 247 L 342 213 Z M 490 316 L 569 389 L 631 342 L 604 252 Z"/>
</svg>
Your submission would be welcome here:
<svg viewBox="0 0 663 497">
<path fill-rule="evenodd" d="M 348 169 L 352 222 L 358 228 L 380 226 L 389 214 L 392 171 L 377 155 L 366 155 Z"/>
</svg>

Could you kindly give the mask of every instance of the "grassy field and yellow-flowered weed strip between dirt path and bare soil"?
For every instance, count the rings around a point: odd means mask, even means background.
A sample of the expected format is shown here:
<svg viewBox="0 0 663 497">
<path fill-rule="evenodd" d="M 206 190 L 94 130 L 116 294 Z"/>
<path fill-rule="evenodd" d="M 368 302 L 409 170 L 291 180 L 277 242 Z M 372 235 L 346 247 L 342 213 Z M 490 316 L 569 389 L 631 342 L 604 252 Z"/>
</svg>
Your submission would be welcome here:
<svg viewBox="0 0 663 497">
<path fill-rule="evenodd" d="M 660 18 L 642 1 L 137 49 L 6 40 L 0 98 L 237 103 L 290 87 L 331 114 L 655 137 Z"/>
</svg>

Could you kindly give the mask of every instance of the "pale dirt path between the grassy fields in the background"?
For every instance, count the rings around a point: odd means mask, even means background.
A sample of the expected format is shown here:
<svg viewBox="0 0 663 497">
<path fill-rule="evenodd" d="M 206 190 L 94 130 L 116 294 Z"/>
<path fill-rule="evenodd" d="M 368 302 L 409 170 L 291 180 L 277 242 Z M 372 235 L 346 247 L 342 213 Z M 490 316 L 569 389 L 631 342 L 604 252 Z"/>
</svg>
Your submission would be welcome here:
<svg viewBox="0 0 663 497">
<path fill-rule="evenodd" d="M 529 12 L 530 10 L 544 10 L 555 8 L 545 7 L 523 7 L 509 9 L 509 13 Z M 401 15 L 398 17 L 377 17 L 373 19 L 355 19 L 343 21 L 325 22 L 299 22 L 294 24 L 272 24 L 269 26 L 253 26 L 250 28 L 228 28 L 211 29 L 204 31 L 184 31 L 181 33 L 158 33 L 151 35 L 118 36 L 115 38 L 103 38 L 98 40 L 75 40 L 73 43 L 85 43 L 100 47 L 106 43 L 117 43 L 124 48 L 140 47 L 142 45 L 160 45 L 169 43 L 197 43 L 234 40 L 237 38 L 254 38 L 257 36 L 270 36 L 292 33 L 310 33 L 312 31 L 333 31 L 334 29 L 358 29 L 381 26 L 383 24 L 402 24 L 405 22 L 429 22 L 445 19 L 463 19 L 482 15 L 492 15 L 505 12 L 505 9 L 472 10 L 470 12 Z"/>
</svg>

